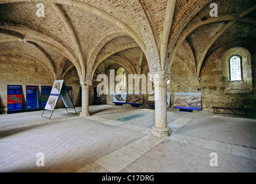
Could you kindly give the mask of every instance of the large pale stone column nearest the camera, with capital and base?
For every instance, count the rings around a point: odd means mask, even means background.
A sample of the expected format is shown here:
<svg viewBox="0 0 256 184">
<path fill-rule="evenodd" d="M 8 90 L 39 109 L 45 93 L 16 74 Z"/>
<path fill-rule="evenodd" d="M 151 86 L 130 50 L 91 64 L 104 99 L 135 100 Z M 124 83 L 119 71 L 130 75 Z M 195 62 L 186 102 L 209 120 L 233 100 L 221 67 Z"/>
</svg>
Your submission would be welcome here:
<svg viewBox="0 0 256 184">
<path fill-rule="evenodd" d="M 151 133 L 157 137 L 167 137 L 170 135 L 170 128 L 167 126 L 167 81 L 170 74 L 165 71 L 150 72 L 154 81 L 155 95 L 155 125 L 151 129 Z"/>
</svg>

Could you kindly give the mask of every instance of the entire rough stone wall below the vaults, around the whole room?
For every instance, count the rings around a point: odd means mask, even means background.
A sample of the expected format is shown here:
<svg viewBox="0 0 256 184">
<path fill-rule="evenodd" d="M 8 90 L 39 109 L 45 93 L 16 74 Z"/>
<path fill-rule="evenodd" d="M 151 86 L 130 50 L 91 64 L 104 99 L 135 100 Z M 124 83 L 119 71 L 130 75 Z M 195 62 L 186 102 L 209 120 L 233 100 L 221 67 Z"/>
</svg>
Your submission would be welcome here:
<svg viewBox="0 0 256 184">
<path fill-rule="evenodd" d="M 242 81 L 229 81 L 228 60 L 235 54 L 242 57 Z M 220 55 L 219 51 L 216 51 L 207 57 L 207 60 L 203 64 L 201 78 L 199 80 L 191 79 L 189 71 L 185 68 L 184 64 L 179 62 L 179 60 L 175 60 L 172 66 L 170 83 L 167 87 L 167 92 L 170 93 L 171 97 L 171 106 L 169 109 L 173 109 L 175 93 L 202 93 L 202 110 L 204 111 L 212 112 L 212 106 L 227 106 L 232 108 L 248 108 L 251 109 L 251 113 L 255 113 L 255 60 L 256 54 L 250 53 L 244 48 L 232 48 L 222 55 Z M 6 113 L 7 110 L 7 85 L 23 85 L 24 111 L 26 106 L 26 85 L 38 85 L 39 96 L 40 86 L 53 85 L 53 79 L 47 77 L 50 76 L 49 71 L 38 62 L 29 60 L 27 57 L 1 56 L 0 62 L 1 71 L 3 71 L 0 74 L 0 113 Z M 109 68 L 105 69 L 105 72 L 109 78 L 108 82 L 110 82 Z M 94 88 L 100 83 L 96 81 L 97 75 L 98 73 L 95 74 L 92 86 L 90 86 L 90 105 L 95 105 Z M 66 86 L 72 87 L 73 104 L 80 106 L 80 83 L 75 67 L 66 72 L 64 81 Z M 149 94 L 144 95 L 143 108 L 150 108 L 148 97 Z M 113 94 L 102 94 L 101 104 L 112 105 Z M 57 108 L 61 108 L 62 106 L 63 104 L 60 101 Z"/>
</svg>

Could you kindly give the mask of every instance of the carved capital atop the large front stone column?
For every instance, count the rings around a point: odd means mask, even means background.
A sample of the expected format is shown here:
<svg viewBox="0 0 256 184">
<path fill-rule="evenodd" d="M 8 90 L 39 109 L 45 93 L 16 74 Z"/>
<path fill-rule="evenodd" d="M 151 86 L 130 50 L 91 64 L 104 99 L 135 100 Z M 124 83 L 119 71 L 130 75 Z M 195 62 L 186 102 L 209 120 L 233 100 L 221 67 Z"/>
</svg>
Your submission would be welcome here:
<svg viewBox="0 0 256 184">
<path fill-rule="evenodd" d="M 170 80 L 172 74 L 165 71 L 149 72 L 150 81 L 154 82 L 155 87 L 166 87 L 167 81 Z"/>
</svg>

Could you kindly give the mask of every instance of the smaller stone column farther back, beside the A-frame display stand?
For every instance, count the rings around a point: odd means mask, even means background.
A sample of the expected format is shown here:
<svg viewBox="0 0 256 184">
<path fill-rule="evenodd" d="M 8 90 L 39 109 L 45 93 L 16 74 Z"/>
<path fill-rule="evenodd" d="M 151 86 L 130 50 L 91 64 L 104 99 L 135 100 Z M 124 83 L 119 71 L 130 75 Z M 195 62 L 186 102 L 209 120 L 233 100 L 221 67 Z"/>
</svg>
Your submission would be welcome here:
<svg viewBox="0 0 256 184">
<path fill-rule="evenodd" d="M 86 85 L 84 82 L 80 82 L 81 90 L 82 90 L 82 104 L 81 104 L 81 112 L 80 117 L 88 117 L 89 113 L 89 88 L 90 85 Z"/>
</svg>

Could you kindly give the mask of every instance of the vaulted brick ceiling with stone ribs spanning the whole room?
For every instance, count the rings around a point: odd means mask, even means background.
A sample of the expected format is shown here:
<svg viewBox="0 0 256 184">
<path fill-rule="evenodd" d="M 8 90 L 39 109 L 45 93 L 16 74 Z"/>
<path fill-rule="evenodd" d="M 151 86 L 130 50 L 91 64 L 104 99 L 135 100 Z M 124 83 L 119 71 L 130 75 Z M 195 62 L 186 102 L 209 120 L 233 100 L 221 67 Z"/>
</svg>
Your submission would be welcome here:
<svg viewBox="0 0 256 184">
<path fill-rule="evenodd" d="M 80 80 L 90 81 L 108 60 L 139 74 L 179 63 L 196 79 L 217 48 L 255 49 L 254 0 L 177 0 L 171 20 L 172 0 L 43 1 L 44 17 L 36 16 L 38 2 L 0 2 L 0 55 L 34 59 L 54 78 L 76 67 Z M 212 2 L 218 17 L 209 15 Z"/>
</svg>

